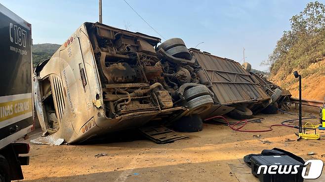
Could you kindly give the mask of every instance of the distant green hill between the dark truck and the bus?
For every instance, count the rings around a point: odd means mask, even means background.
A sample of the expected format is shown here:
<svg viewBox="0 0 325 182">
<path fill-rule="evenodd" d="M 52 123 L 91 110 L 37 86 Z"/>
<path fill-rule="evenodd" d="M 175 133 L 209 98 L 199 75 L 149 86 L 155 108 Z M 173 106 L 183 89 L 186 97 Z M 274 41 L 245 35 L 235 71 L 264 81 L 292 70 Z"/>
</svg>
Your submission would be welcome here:
<svg viewBox="0 0 325 182">
<path fill-rule="evenodd" d="M 33 45 L 33 67 L 44 61 L 55 53 L 61 45 L 58 44 L 35 44 Z"/>
</svg>

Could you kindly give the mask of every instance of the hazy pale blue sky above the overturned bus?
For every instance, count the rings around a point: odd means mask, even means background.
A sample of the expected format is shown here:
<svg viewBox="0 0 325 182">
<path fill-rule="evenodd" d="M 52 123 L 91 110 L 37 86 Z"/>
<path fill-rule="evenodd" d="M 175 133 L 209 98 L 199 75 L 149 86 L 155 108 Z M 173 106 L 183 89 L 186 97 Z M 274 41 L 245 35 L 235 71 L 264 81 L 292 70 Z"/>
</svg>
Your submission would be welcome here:
<svg viewBox="0 0 325 182">
<path fill-rule="evenodd" d="M 188 48 L 226 57 L 252 68 L 272 53 L 290 18 L 310 0 L 102 0 L 103 24 L 162 38 L 179 37 Z M 319 0 L 325 3 L 325 0 Z M 62 44 L 84 22 L 98 21 L 98 0 L 0 0 L 32 24 L 34 44 Z"/>
</svg>

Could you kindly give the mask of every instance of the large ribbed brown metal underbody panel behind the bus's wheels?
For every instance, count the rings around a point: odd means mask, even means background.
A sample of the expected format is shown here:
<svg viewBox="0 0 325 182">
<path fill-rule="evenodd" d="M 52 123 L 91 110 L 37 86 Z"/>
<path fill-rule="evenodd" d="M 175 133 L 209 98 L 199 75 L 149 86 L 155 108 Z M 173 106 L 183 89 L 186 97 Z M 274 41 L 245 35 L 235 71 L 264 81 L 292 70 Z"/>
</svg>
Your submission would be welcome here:
<svg viewBox="0 0 325 182">
<path fill-rule="evenodd" d="M 239 62 L 220 58 L 190 49 L 207 75 L 211 90 L 219 104 L 229 105 L 269 99 L 258 83 L 255 83 Z"/>
</svg>

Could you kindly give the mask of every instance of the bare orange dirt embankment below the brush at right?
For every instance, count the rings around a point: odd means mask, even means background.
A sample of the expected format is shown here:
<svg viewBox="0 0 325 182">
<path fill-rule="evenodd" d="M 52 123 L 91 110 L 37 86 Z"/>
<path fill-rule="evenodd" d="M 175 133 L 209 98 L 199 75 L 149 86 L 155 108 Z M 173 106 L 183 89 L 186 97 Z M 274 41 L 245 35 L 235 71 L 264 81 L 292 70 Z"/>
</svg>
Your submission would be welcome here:
<svg viewBox="0 0 325 182">
<path fill-rule="evenodd" d="M 295 69 L 302 75 L 302 98 L 324 100 L 325 97 L 325 60 L 310 64 L 306 69 Z M 293 74 L 284 74 L 282 68 L 270 80 L 291 92 L 293 97 L 299 97 L 299 81 Z"/>
</svg>

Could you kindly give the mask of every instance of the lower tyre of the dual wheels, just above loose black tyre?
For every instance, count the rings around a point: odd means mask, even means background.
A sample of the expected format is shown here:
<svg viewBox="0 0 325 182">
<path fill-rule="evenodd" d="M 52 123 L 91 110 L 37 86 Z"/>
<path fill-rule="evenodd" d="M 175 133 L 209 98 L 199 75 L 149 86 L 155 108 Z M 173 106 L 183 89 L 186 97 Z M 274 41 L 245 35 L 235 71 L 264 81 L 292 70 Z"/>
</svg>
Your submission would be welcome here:
<svg viewBox="0 0 325 182">
<path fill-rule="evenodd" d="M 187 101 L 190 114 L 201 114 L 213 105 L 213 100 L 210 95 L 202 95 Z"/>
</svg>

